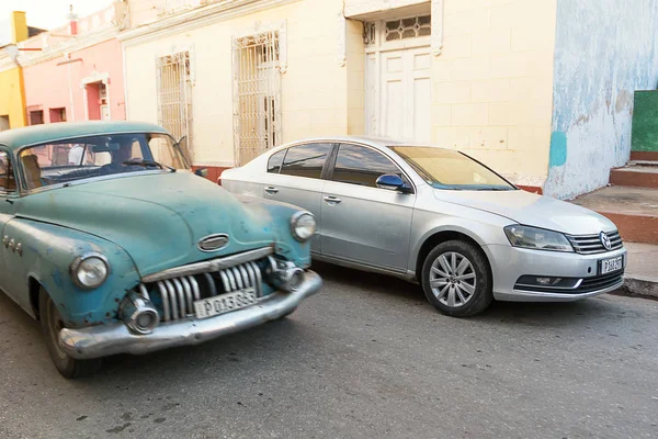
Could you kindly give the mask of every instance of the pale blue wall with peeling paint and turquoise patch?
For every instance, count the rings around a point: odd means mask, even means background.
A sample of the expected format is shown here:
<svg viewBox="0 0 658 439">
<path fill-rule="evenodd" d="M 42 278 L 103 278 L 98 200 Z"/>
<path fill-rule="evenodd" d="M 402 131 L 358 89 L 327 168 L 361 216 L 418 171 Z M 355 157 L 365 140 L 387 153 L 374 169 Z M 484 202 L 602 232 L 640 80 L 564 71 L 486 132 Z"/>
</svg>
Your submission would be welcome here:
<svg viewBox="0 0 658 439">
<path fill-rule="evenodd" d="M 544 193 L 608 183 L 631 154 L 633 93 L 658 85 L 658 0 L 559 0 Z"/>
</svg>

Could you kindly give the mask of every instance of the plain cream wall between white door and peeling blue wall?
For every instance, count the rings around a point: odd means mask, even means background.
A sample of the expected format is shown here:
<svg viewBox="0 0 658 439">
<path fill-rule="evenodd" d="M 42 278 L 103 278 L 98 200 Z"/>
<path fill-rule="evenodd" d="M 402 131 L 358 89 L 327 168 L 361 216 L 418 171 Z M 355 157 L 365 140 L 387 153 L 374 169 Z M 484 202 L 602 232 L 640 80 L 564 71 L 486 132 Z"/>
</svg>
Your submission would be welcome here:
<svg viewBox="0 0 658 439">
<path fill-rule="evenodd" d="M 548 171 L 556 0 L 445 0 L 433 142 L 519 184 Z"/>
</svg>

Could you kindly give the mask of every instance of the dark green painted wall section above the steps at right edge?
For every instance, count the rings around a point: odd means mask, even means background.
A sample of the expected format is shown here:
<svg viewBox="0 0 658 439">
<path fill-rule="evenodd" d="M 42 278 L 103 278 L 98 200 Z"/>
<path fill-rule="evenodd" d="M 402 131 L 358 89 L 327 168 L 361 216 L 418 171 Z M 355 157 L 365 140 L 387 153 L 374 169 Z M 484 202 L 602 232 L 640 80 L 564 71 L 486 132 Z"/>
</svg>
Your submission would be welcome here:
<svg viewBox="0 0 658 439">
<path fill-rule="evenodd" d="M 658 153 L 658 90 L 635 92 L 633 105 L 631 149 Z"/>
</svg>

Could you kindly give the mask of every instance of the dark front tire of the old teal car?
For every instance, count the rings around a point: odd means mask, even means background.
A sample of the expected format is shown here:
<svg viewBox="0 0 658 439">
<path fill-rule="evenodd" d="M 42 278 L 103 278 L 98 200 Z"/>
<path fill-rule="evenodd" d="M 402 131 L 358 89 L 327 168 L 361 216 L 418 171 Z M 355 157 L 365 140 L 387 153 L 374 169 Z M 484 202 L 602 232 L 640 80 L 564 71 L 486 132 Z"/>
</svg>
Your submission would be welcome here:
<svg viewBox="0 0 658 439">
<path fill-rule="evenodd" d="M 59 330 L 64 328 L 64 322 L 57 311 L 57 305 L 50 299 L 48 293 L 42 288 L 38 293 L 38 309 L 42 330 L 50 353 L 50 360 L 64 378 L 75 379 L 87 376 L 101 367 L 100 359 L 76 360 L 69 357 L 59 347 Z"/>
</svg>

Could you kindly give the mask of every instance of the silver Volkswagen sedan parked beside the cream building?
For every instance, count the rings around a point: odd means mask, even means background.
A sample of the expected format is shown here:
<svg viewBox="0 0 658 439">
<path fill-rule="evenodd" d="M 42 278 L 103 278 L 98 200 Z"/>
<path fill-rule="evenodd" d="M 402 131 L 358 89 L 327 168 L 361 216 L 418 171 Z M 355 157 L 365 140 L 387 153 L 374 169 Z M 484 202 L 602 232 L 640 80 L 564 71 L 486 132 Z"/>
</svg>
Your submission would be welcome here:
<svg viewBox="0 0 658 439">
<path fill-rule="evenodd" d="M 623 284 L 626 250 L 611 221 L 520 190 L 457 150 L 315 138 L 226 170 L 220 182 L 307 210 L 314 259 L 417 281 L 449 315 Z"/>
</svg>

